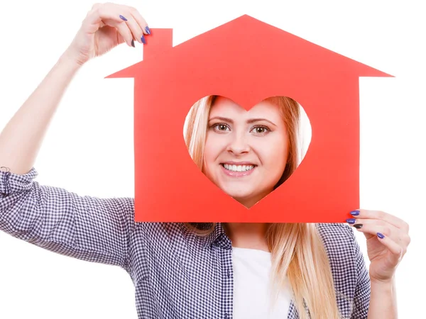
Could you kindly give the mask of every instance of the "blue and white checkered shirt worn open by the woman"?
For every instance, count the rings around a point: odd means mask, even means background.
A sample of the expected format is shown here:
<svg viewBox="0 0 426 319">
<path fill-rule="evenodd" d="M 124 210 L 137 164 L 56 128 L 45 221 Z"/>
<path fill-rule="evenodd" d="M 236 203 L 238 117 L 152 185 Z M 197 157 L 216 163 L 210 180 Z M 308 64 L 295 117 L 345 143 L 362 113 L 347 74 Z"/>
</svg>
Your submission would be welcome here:
<svg viewBox="0 0 426 319">
<path fill-rule="evenodd" d="M 0 230 L 53 252 L 122 267 L 133 280 L 140 319 L 232 318 L 232 247 L 221 223 L 208 237 L 182 223 L 135 223 L 133 198 L 78 196 L 38 184 L 37 174 L 1 169 Z M 367 318 L 370 279 L 353 230 L 316 225 L 343 318 Z M 299 318 L 293 301 L 287 318 Z"/>
</svg>

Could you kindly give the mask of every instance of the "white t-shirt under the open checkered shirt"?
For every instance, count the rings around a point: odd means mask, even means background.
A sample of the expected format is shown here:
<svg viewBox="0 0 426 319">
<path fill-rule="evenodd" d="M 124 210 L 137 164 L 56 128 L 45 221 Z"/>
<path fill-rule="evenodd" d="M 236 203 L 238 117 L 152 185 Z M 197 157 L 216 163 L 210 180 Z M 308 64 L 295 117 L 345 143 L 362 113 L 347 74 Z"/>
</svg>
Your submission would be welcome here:
<svg viewBox="0 0 426 319">
<path fill-rule="evenodd" d="M 288 280 L 275 306 L 271 308 L 268 287 L 271 252 L 232 247 L 234 268 L 234 319 L 283 319 L 290 308 Z M 270 313 L 268 313 L 270 311 Z"/>
</svg>

